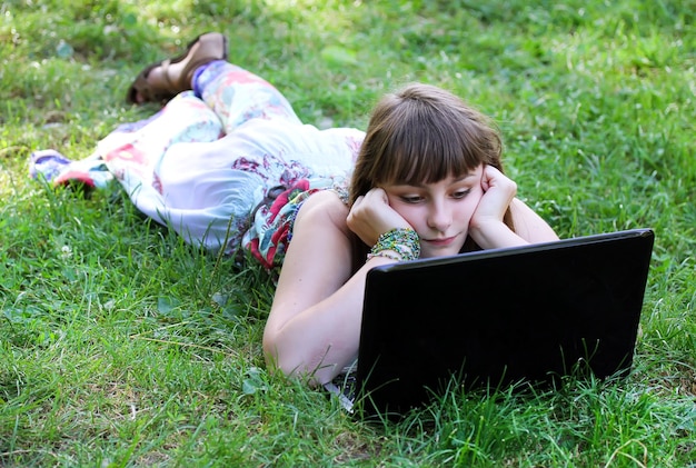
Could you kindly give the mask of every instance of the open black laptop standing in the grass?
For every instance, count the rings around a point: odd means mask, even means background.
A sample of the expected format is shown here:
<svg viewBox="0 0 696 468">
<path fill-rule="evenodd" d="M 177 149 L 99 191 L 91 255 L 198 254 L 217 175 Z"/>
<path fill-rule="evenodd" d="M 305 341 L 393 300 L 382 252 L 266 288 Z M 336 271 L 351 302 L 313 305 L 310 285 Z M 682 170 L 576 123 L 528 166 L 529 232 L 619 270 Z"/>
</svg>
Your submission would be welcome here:
<svg viewBox="0 0 696 468">
<path fill-rule="evenodd" d="M 367 276 L 357 398 L 404 414 L 451 385 L 626 375 L 650 229 L 377 267 Z"/>
</svg>

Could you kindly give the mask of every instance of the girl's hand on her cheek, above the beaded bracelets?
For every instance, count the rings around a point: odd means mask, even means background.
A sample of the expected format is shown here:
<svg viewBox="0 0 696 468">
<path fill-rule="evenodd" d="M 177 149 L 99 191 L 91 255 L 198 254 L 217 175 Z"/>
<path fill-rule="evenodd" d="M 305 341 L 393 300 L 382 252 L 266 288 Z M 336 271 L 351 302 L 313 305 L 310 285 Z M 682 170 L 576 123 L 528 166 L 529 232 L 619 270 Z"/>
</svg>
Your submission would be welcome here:
<svg viewBox="0 0 696 468">
<path fill-rule="evenodd" d="M 366 245 L 374 246 L 379 235 L 394 228 L 408 228 L 408 222 L 389 206 L 387 193 L 374 188 L 356 199 L 346 219 L 348 228 Z"/>
</svg>

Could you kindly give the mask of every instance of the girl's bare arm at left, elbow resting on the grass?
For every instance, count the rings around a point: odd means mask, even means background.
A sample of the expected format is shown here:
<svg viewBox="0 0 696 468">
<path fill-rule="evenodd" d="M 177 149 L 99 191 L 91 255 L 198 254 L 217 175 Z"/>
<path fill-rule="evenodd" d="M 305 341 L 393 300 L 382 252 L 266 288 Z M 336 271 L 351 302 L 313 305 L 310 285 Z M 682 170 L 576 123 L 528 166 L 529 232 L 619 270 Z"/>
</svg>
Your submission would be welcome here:
<svg viewBox="0 0 696 468">
<path fill-rule="evenodd" d="M 302 205 L 264 331 L 269 365 L 287 375 L 311 376 L 315 384 L 329 381 L 356 359 L 365 276 L 392 261 L 374 258 L 350 277 L 347 216 L 330 191 Z"/>
</svg>

